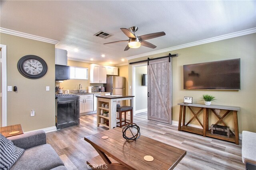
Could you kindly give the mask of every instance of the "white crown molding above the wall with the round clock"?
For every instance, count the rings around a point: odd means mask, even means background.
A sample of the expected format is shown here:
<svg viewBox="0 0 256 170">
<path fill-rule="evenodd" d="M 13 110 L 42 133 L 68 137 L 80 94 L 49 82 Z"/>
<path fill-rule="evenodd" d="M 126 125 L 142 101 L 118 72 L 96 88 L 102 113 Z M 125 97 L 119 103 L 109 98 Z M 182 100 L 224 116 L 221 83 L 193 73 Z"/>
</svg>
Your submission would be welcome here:
<svg viewBox="0 0 256 170">
<path fill-rule="evenodd" d="M 56 40 L 53 40 L 53 39 L 39 37 L 39 36 L 28 34 L 28 33 L 22 33 L 22 32 L 19 32 L 19 31 L 14 31 L 14 30 L 2 28 L 2 27 L 0 27 L 0 33 L 15 35 L 15 36 L 18 36 L 18 37 L 33 39 L 33 40 L 42 41 L 42 42 L 45 42 L 45 43 L 54 44 L 54 45 L 56 45 L 60 42 L 60 41 L 56 41 Z"/>
</svg>

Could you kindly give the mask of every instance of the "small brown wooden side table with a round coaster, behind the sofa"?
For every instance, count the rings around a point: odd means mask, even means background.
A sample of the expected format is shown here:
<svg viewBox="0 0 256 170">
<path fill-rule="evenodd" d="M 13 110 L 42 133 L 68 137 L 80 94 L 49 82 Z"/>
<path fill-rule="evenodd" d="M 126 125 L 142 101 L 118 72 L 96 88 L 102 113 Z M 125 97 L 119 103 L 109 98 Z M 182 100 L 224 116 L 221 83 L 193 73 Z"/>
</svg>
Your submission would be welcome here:
<svg viewBox="0 0 256 170">
<path fill-rule="evenodd" d="M 17 132 L 17 133 L 15 133 Z M 0 133 L 5 137 L 11 137 L 15 135 L 23 134 L 23 130 L 20 124 L 0 127 Z M 11 133 L 11 134 L 10 134 Z"/>
</svg>

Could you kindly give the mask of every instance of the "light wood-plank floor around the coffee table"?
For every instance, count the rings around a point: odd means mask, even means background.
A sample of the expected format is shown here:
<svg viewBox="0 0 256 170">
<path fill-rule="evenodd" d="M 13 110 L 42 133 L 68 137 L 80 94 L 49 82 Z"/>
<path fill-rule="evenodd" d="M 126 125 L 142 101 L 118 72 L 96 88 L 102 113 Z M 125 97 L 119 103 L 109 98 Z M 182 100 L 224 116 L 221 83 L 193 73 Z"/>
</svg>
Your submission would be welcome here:
<svg viewBox="0 0 256 170">
<path fill-rule="evenodd" d="M 178 131 L 178 126 L 149 121 L 147 113 L 134 116 L 141 135 L 187 151 L 186 156 L 174 170 L 244 170 L 241 158 L 241 143 L 202 137 Z M 89 169 L 86 160 L 97 156 L 94 148 L 84 137 L 105 131 L 106 127 L 96 126 L 96 114 L 80 117 L 80 125 L 67 127 L 46 134 L 47 143 L 52 145 L 68 170 Z"/>
</svg>

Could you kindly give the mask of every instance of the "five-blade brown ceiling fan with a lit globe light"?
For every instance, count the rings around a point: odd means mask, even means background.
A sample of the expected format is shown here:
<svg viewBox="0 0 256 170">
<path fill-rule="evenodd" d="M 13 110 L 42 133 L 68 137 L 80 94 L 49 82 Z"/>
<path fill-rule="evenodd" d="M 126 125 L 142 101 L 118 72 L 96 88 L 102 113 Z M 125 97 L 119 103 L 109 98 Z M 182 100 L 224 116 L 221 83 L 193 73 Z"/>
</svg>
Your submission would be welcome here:
<svg viewBox="0 0 256 170">
<path fill-rule="evenodd" d="M 161 37 L 161 36 L 165 35 L 165 32 L 162 31 L 162 32 L 150 33 L 150 34 L 138 36 L 138 35 L 135 35 L 135 32 L 138 30 L 138 27 L 135 27 L 135 26 L 130 27 L 130 30 L 133 33 L 130 32 L 126 28 L 120 28 L 120 29 L 129 38 L 128 40 L 114 41 L 114 42 L 104 43 L 104 44 L 112 44 L 112 43 L 120 43 L 120 42 L 128 41 L 128 45 L 125 47 L 124 51 L 127 51 L 130 48 L 139 48 L 140 45 L 154 49 L 154 48 L 156 48 L 156 45 L 151 44 L 145 40 L 156 38 L 156 37 Z"/>
</svg>

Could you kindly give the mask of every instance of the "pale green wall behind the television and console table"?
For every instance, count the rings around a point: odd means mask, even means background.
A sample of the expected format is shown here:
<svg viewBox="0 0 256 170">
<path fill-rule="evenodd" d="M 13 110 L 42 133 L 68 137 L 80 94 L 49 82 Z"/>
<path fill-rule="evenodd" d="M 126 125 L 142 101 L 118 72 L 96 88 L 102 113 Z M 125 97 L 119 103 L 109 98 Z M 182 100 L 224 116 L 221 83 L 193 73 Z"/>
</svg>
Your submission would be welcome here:
<svg viewBox="0 0 256 170">
<path fill-rule="evenodd" d="M 203 104 L 200 101 L 202 94 L 211 94 L 216 96 L 215 105 L 238 106 L 238 125 L 239 133 L 243 130 L 256 132 L 256 34 L 249 34 L 231 39 L 206 43 L 194 47 L 178 49 L 166 53 L 150 55 L 137 59 L 129 60 L 128 63 L 140 61 L 149 58 L 167 56 L 168 53 L 176 54 L 178 57 L 172 58 L 172 120 L 178 121 L 180 102 L 183 102 L 184 96 L 193 97 L 193 103 Z M 184 90 L 183 89 L 183 65 L 204 63 L 210 61 L 220 61 L 227 59 L 241 59 L 241 90 Z M 128 83 L 132 85 L 132 66 L 128 66 Z M 132 90 L 128 92 L 132 94 Z M 189 112 L 189 111 L 188 111 Z M 200 113 L 202 114 L 202 113 Z M 220 113 L 224 114 L 224 111 Z M 192 114 L 186 117 L 186 122 L 192 118 Z M 209 125 L 216 123 L 218 118 L 210 114 Z M 234 122 L 232 114 L 229 114 L 224 121 L 233 129 Z M 202 122 L 202 119 L 201 119 Z M 199 125 L 196 121 L 192 124 Z"/>
</svg>

